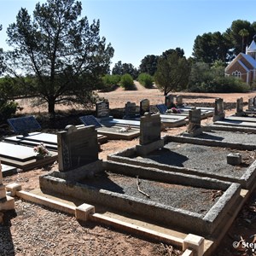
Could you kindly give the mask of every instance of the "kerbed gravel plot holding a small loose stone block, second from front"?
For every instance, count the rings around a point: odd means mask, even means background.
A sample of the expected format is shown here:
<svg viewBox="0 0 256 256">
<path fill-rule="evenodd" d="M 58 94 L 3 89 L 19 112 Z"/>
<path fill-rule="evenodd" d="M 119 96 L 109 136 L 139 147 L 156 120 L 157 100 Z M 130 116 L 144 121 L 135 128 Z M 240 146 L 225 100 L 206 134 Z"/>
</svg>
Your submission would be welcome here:
<svg viewBox="0 0 256 256">
<path fill-rule="evenodd" d="M 109 154 L 108 160 L 154 167 L 169 172 L 214 177 L 241 183 L 244 188 L 253 186 L 256 177 L 254 151 L 248 151 L 246 148 L 236 149 L 236 144 L 233 144 L 233 148 L 225 148 L 228 145 L 232 146 L 232 143 L 222 144 L 197 138 L 166 137 L 164 148 L 154 150 L 143 157 L 137 154 L 137 148 L 134 147 L 116 154 Z M 235 166 L 228 164 L 227 156 L 230 153 L 241 154 L 241 164 Z"/>
</svg>

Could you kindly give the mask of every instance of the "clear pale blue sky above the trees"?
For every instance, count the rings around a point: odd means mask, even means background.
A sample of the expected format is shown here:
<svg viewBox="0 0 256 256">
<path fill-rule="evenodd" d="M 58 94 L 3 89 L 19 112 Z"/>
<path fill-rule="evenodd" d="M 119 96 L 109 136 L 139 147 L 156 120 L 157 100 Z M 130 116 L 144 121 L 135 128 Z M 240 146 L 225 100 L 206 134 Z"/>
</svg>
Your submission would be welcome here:
<svg viewBox="0 0 256 256">
<path fill-rule="evenodd" d="M 0 48 L 6 29 L 20 8 L 32 15 L 41 0 L 0 0 Z M 161 55 L 167 49 L 192 55 L 195 38 L 207 32 L 225 32 L 232 21 L 256 21 L 255 0 L 81 0 L 82 16 L 100 20 L 100 34 L 114 49 L 115 63 L 139 67 L 146 55 Z"/>
</svg>

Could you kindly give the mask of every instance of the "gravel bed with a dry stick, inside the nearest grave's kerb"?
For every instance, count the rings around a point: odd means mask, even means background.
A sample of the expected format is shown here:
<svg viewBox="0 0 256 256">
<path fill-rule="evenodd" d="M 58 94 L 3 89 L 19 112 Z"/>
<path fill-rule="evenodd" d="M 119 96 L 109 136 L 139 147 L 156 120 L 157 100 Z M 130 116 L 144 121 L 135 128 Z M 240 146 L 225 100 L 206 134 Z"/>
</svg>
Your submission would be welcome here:
<svg viewBox="0 0 256 256">
<path fill-rule="evenodd" d="M 154 201 L 166 206 L 181 208 L 190 212 L 207 213 L 218 201 L 212 200 L 212 190 L 177 185 L 172 183 L 160 183 L 152 180 L 141 179 L 139 188 L 149 195 L 140 193 L 137 189 L 137 177 L 127 177 L 108 172 L 95 180 L 86 179 L 80 183 L 106 189 L 123 195 L 129 195 L 144 201 Z"/>
</svg>

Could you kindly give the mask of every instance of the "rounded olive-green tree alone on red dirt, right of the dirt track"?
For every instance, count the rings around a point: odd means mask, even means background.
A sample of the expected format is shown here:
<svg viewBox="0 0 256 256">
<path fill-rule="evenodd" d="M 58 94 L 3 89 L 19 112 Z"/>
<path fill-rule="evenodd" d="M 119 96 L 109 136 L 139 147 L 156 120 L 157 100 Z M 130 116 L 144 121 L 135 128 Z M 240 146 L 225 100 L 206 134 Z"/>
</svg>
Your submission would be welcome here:
<svg viewBox="0 0 256 256">
<path fill-rule="evenodd" d="M 166 96 L 172 90 L 183 90 L 189 81 L 189 61 L 172 52 L 167 58 L 160 56 L 154 79 L 160 90 Z"/>
</svg>

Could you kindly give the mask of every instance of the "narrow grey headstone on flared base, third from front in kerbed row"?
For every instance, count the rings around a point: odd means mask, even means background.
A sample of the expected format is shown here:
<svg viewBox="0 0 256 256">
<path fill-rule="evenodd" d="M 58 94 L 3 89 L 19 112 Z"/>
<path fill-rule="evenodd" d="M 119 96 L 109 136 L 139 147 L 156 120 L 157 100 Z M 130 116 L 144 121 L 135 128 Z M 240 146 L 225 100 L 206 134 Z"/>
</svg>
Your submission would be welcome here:
<svg viewBox="0 0 256 256">
<path fill-rule="evenodd" d="M 193 108 L 189 110 L 189 124 L 187 131 L 183 133 L 185 137 L 194 137 L 201 134 L 201 109 Z"/>
</svg>

